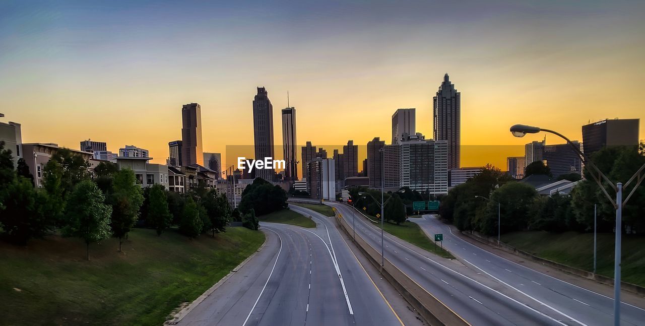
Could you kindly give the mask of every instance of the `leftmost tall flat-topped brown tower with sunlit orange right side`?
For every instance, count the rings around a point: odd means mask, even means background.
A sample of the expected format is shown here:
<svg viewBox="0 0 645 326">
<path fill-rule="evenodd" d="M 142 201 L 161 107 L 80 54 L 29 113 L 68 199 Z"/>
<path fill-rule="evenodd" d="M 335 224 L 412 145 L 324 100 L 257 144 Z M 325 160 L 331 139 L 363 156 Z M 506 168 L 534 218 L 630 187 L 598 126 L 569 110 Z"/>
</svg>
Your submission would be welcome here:
<svg viewBox="0 0 645 326">
<path fill-rule="evenodd" d="M 183 127 L 181 128 L 182 165 L 204 165 L 201 138 L 201 107 L 197 103 L 186 104 L 181 108 Z"/>
</svg>

